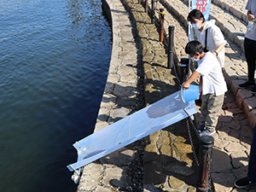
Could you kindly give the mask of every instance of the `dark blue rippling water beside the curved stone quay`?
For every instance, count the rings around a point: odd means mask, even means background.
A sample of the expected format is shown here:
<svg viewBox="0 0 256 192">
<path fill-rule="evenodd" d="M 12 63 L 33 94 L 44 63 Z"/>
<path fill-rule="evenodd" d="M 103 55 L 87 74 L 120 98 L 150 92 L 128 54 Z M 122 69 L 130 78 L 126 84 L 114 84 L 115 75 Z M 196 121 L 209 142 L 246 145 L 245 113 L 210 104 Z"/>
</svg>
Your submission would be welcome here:
<svg viewBox="0 0 256 192">
<path fill-rule="evenodd" d="M 71 192 L 111 55 L 100 0 L 1 0 L 0 191 Z"/>
</svg>

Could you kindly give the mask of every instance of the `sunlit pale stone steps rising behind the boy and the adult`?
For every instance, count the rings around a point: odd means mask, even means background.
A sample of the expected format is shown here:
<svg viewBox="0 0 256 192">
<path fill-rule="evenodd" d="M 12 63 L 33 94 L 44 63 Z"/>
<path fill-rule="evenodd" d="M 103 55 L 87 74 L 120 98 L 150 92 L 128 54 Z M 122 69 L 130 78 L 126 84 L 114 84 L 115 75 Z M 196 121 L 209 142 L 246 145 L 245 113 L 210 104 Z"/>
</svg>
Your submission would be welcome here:
<svg viewBox="0 0 256 192">
<path fill-rule="evenodd" d="M 247 11 L 244 9 L 246 3 L 245 0 L 236 0 L 232 3 L 230 1 L 224 2 L 224 0 L 212 0 L 210 19 L 216 20 L 216 25 L 222 30 L 224 38 L 228 42 L 225 46 L 224 77 L 230 90 L 236 96 L 237 105 L 245 111 L 249 124 L 253 127 L 256 122 L 256 100 L 249 90 L 240 90 L 237 87 L 237 84 L 247 80 L 247 62 L 243 48 L 244 34 L 247 29 L 247 22 L 245 21 L 247 20 Z M 181 32 L 181 35 L 180 37 L 175 36 L 174 43 L 178 59 L 186 56 L 183 49 L 188 42 L 188 0 L 160 0 L 156 8 L 167 10 L 166 31 L 168 25 L 173 25 L 173 23 L 177 27 L 176 22 L 168 19 L 169 15 L 183 23 L 183 30 L 175 31 Z"/>
</svg>

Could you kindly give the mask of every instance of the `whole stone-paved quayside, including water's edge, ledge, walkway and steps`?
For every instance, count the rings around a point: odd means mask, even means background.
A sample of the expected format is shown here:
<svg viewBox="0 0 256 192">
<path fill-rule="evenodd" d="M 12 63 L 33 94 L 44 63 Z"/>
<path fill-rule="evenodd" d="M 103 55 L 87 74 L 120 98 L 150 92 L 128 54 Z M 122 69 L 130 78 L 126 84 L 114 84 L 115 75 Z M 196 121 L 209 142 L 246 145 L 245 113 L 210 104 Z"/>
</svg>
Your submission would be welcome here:
<svg viewBox="0 0 256 192">
<path fill-rule="evenodd" d="M 96 131 L 143 108 L 144 102 L 149 105 L 178 90 L 177 79 L 166 68 L 165 46 L 159 43 L 159 34 L 142 5 L 133 0 L 122 3 L 108 0 L 113 54 Z M 245 3 L 212 0 L 211 7 L 211 18 L 217 20 L 228 40 L 224 76 L 230 91 L 225 95 L 217 133 L 213 135 L 211 167 L 214 187 L 220 192 L 256 191 L 255 186 L 233 186 L 236 178 L 247 173 L 256 110 L 255 97 L 248 90 L 237 88 L 247 76 L 242 48 Z M 187 57 L 183 51 L 188 42 L 187 4 L 186 0 L 160 0 L 157 6 L 167 10 L 165 28 L 175 26 L 176 60 Z M 135 23 L 131 24 L 132 20 Z M 199 115 L 200 110 L 195 119 Z M 191 152 L 183 120 L 85 166 L 78 191 L 195 191 L 197 170 Z"/>
</svg>

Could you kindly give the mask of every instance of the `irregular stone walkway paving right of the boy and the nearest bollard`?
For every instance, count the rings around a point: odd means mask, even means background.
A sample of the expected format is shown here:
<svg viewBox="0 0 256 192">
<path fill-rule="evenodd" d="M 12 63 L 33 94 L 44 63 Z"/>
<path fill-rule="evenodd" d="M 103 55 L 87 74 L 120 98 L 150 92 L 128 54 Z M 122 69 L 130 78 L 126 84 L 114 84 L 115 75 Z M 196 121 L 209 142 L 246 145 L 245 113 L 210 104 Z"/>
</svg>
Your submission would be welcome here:
<svg viewBox="0 0 256 192">
<path fill-rule="evenodd" d="M 216 130 L 217 133 L 212 136 L 214 146 L 211 164 L 215 190 L 218 192 L 256 191 L 255 186 L 250 189 L 234 189 L 234 181 L 247 176 L 253 131 L 248 124 L 246 114 L 237 106 L 236 98 L 230 91 L 225 94 L 224 107 Z"/>
</svg>

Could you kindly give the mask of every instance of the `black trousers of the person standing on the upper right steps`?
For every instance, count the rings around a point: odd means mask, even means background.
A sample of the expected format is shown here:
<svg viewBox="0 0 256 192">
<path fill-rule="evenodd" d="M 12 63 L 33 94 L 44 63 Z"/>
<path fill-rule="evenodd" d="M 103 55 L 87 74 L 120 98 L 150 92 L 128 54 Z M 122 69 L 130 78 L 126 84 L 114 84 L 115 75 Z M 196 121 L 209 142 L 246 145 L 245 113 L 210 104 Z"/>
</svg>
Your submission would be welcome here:
<svg viewBox="0 0 256 192">
<path fill-rule="evenodd" d="M 244 50 L 248 66 L 248 80 L 254 81 L 255 61 L 256 61 L 256 41 L 249 38 L 244 39 Z"/>
</svg>

